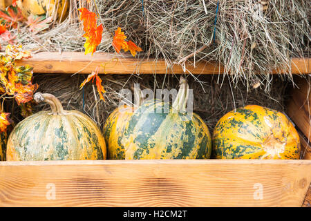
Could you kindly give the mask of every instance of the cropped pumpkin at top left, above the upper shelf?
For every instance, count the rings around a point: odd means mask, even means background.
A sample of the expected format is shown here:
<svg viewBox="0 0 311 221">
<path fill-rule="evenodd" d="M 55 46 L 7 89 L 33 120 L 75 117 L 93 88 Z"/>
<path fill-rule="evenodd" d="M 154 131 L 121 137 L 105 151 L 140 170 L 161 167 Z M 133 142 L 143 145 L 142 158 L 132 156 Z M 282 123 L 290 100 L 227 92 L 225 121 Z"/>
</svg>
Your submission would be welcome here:
<svg viewBox="0 0 311 221">
<path fill-rule="evenodd" d="M 24 17 L 48 12 L 48 17 L 63 21 L 68 16 L 69 0 L 17 0 L 17 6 Z"/>
</svg>

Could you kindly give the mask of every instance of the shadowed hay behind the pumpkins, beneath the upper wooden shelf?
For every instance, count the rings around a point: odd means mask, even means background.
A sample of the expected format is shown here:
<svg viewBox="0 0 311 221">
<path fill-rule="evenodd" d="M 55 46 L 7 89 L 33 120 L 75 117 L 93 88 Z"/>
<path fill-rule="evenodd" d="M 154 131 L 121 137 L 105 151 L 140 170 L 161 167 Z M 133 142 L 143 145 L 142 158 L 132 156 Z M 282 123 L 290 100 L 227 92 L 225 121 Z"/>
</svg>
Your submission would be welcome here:
<svg viewBox="0 0 311 221">
<path fill-rule="evenodd" d="M 140 88 L 150 88 L 156 91 L 158 88 L 178 88 L 179 77 L 169 75 L 104 75 L 103 85 L 106 90 L 105 102 L 100 100 L 96 88 L 92 84 L 86 84 L 84 90 L 79 85 L 86 75 L 35 75 L 34 82 L 39 84 L 38 91 L 41 93 L 53 93 L 64 105 L 64 109 L 77 110 L 86 113 L 102 128 L 109 114 L 117 108 L 123 98 L 120 90 L 133 90 L 133 84 L 140 84 Z M 272 90 L 269 94 L 264 89 L 256 88 L 247 91 L 247 87 L 239 83 L 233 88 L 229 78 L 220 78 L 211 75 L 200 75 L 197 78 L 187 77 L 189 87 L 194 90 L 194 113 L 197 113 L 205 121 L 209 130 L 212 131 L 218 119 L 234 108 L 247 104 L 258 104 L 284 112 L 284 102 L 287 97 L 285 91 L 289 81 L 284 82 L 279 77 L 272 80 Z M 53 84 L 50 82 L 53 81 Z M 221 88 L 220 88 L 221 87 Z M 83 98 L 84 97 L 84 98 Z M 12 102 L 12 100 L 11 100 Z M 7 104 L 10 107 L 12 104 Z M 84 107 L 84 108 L 83 108 Z M 34 112 L 48 110 L 47 104 L 40 103 L 35 106 Z M 12 113 L 15 123 L 23 117 L 19 115 L 20 109 L 15 105 Z"/>
</svg>

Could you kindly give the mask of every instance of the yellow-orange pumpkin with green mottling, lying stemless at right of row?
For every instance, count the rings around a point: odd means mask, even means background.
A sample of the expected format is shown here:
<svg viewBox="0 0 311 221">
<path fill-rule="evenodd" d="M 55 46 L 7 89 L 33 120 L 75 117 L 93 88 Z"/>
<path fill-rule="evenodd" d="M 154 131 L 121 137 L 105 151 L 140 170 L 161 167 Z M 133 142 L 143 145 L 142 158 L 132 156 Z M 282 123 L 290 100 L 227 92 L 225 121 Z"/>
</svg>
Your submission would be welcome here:
<svg viewBox="0 0 311 221">
<path fill-rule="evenodd" d="M 213 155 L 220 159 L 299 159 L 299 135 L 283 113 L 247 105 L 219 119 Z"/>
</svg>

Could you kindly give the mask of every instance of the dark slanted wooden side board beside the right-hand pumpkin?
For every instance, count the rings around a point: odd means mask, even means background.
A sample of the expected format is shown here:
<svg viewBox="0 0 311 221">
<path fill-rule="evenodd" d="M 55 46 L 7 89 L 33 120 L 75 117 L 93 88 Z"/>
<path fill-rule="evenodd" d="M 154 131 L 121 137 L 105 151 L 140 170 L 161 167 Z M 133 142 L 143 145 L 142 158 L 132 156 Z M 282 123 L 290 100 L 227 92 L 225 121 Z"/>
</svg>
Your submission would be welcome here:
<svg viewBox="0 0 311 221">
<path fill-rule="evenodd" d="M 311 140 L 311 92 L 306 79 L 296 79 L 299 88 L 294 88 L 288 102 L 287 114 L 299 130 Z"/>
</svg>

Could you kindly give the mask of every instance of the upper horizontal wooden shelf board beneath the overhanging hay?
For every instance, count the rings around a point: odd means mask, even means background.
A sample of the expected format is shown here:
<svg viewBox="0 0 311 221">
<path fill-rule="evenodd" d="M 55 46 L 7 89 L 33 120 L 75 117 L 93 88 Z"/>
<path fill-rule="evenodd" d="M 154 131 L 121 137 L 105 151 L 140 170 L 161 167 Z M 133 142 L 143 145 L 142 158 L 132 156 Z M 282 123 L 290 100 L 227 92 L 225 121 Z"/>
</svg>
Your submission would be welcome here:
<svg viewBox="0 0 311 221">
<path fill-rule="evenodd" d="M 35 73 L 90 74 L 97 66 L 103 64 L 106 65 L 106 68 L 100 68 L 101 74 L 184 73 L 181 66 L 176 64 L 169 67 L 163 59 L 157 61 L 154 59 L 135 59 L 133 57 L 124 57 L 124 55 L 109 55 L 103 52 L 96 52 L 93 56 L 84 55 L 84 52 L 39 52 L 29 59 L 17 61 L 17 64 L 29 64 L 34 67 Z M 311 59 L 293 59 L 292 73 L 311 73 L 310 64 Z M 187 63 L 186 68 L 196 75 L 222 74 L 224 70 L 219 64 L 205 61 L 196 62 L 196 68 Z"/>
</svg>

